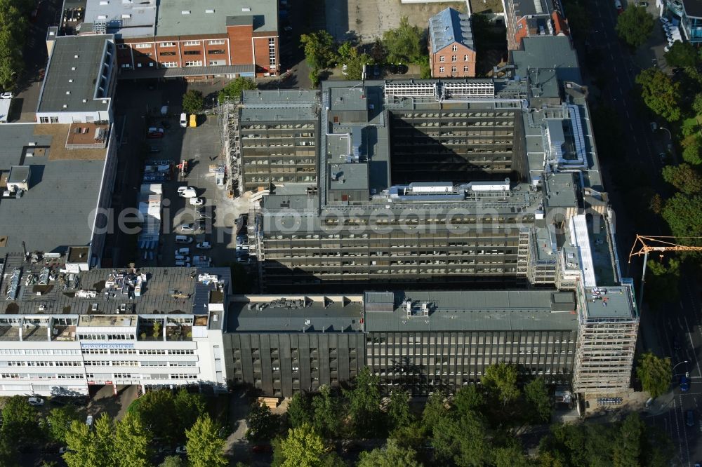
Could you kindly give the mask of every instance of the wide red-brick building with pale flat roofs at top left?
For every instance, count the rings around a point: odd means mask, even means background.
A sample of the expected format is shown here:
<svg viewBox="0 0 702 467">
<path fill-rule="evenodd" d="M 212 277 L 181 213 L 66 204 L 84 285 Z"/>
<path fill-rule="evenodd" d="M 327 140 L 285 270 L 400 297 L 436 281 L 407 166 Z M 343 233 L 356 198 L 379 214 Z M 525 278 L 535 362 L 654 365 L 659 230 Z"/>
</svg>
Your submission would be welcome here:
<svg viewBox="0 0 702 467">
<path fill-rule="evenodd" d="M 122 78 L 279 73 L 276 1 L 87 0 L 77 32 L 115 35 Z"/>
</svg>

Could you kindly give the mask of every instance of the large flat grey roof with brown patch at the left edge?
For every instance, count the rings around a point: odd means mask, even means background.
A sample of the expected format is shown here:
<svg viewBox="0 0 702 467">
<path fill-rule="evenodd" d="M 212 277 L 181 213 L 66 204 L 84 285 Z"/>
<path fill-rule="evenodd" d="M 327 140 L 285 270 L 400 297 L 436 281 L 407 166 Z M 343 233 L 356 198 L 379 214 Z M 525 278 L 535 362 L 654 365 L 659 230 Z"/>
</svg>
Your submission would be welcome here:
<svg viewBox="0 0 702 467">
<path fill-rule="evenodd" d="M 0 199 L 0 236 L 6 236 L 0 256 L 27 250 L 65 252 L 71 245 L 88 245 L 93 211 L 105 167 L 106 149 L 67 151 L 68 125 L 8 123 L 0 126 L 0 170 L 29 165 L 29 190 L 21 198 Z M 54 133 L 48 133 L 53 131 Z M 36 133 L 35 133 L 36 132 Z M 29 142 L 36 143 L 29 147 Z M 27 156 L 27 150 L 34 156 Z M 81 154 L 82 158 L 58 158 Z"/>
</svg>

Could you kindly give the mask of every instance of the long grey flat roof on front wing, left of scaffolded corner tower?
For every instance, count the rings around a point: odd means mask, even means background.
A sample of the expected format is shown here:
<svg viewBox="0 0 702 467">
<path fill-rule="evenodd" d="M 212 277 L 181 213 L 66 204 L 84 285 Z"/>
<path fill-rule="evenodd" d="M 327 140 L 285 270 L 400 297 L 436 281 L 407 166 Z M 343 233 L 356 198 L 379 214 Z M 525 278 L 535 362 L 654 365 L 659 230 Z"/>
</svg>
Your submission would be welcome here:
<svg viewBox="0 0 702 467">
<path fill-rule="evenodd" d="M 366 292 L 366 297 L 374 292 Z M 471 290 L 390 292 L 376 295 L 372 303 L 382 309 L 392 295 L 392 311 L 369 311 L 366 299 L 366 330 L 402 331 L 510 331 L 574 330 L 578 326 L 575 296 L 555 290 Z M 413 316 L 404 306 L 410 300 Z M 428 304 L 423 316 L 421 304 Z"/>
</svg>

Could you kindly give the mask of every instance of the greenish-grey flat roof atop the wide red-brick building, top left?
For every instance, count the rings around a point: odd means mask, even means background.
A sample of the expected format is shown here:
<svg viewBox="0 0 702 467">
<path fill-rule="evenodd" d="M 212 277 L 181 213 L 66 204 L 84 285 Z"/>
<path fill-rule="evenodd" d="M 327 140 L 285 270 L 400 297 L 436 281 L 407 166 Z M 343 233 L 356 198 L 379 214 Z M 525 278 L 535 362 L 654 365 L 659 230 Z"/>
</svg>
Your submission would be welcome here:
<svg viewBox="0 0 702 467">
<path fill-rule="evenodd" d="M 244 21 L 237 23 L 236 17 L 243 17 Z M 277 0 L 162 0 L 158 6 L 155 35 L 223 34 L 227 32 L 227 24 L 246 22 L 253 22 L 254 32 L 277 33 Z"/>
</svg>

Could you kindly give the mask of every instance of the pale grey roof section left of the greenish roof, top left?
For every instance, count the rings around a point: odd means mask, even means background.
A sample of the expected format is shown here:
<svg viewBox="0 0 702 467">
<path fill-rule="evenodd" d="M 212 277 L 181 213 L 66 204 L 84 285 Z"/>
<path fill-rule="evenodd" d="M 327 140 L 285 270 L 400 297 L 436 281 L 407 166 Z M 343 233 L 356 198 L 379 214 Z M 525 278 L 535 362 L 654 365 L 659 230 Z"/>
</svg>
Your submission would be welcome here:
<svg viewBox="0 0 702 467">
<path fill-rule="evenodd" d="M 95 22 L 104 21 L 106 32 L 119 38 L 154 36 L 156 3 L 157 0 L 87 0 L 85 22 L 94 27 Z"/>
</svg>

